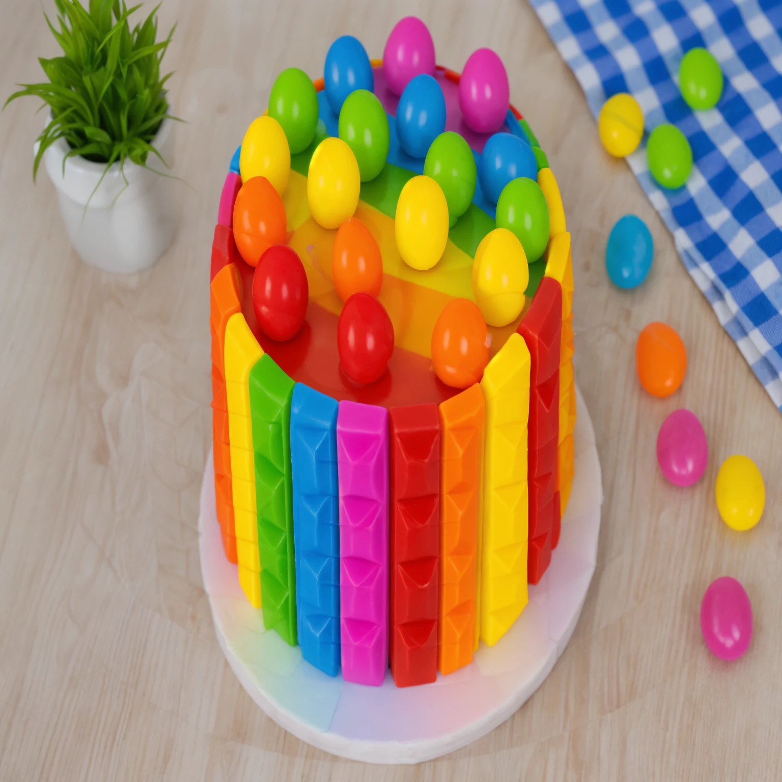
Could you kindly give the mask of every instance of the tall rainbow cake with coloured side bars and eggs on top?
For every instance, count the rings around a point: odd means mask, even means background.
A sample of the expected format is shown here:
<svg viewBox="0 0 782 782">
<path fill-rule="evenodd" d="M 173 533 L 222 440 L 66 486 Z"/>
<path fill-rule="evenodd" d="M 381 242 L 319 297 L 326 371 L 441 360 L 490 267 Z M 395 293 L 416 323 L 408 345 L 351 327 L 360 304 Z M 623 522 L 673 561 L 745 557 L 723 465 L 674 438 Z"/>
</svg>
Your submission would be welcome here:
<svg viewBox="0 0 782 782">
<path fill-rule="evenodd" d="M 570 237 L 493 52 L 460 77 L 408 17 L 383 60 L 343 37 L 324 79 L 300 74 L 275 82 L 221 195 L 217 517 L 248 600 L 305 660 L 374 685 L 390 660 L 397 686 L 431 682 L 502 637 L 558 541 L 576 415 Z M 369 283 L 368 249 L 364 276 L 335 284 L 345 221 L 376 245 Z M 371 289 L 351 296 L 357 280 Z M 377 379 L 356 381 L 364 364 Z"/>
</svg>

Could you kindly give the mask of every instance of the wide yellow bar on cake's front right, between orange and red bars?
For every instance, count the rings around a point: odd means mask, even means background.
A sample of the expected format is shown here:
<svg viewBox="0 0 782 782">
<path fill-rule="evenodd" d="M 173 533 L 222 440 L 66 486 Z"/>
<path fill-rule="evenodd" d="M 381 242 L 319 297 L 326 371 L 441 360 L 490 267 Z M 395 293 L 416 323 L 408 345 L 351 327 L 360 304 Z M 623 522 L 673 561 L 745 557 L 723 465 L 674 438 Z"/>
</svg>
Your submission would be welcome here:
<svg viewBox="0 0 782 782">
<path fill-rule="evenodd" d="M 518 334 L 487 364 L 481 638 L 492 646 L 527 604 L 529 350 Z"/>
</svg>

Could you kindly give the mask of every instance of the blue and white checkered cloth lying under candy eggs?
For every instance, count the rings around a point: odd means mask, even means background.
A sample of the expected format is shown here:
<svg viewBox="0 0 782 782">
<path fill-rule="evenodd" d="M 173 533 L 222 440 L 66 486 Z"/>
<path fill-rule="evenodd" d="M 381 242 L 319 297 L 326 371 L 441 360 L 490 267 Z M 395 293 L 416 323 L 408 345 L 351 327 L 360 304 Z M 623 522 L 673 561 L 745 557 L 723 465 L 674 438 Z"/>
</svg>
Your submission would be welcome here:
<svg viewBox="0 0 782 782">
<path fill-rule="evenodd" d="M 660 188 L 642 143 L 628 163 L 673 234 L 687 271 L 782 411 L 782 2 L 530 0 L 597 117 L 630 92 L 646 131 L 689 140 L 687 185 Z M 678 88 L 703 46 L 725 77 L 716 108 L 693 112 Z"/>
</svg>

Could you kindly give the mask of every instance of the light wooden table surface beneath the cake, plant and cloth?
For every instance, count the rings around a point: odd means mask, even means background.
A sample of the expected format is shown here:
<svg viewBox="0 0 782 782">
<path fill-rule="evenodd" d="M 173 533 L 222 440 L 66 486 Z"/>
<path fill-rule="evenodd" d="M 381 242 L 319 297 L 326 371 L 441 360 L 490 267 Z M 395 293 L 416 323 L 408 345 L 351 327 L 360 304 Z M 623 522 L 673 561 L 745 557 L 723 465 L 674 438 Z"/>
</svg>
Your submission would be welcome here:
<svg viewBox="0 0 782 782">
<path fill-rule="evenodd" d="M 52 10 L 51 0 L 43 3 Z M 149 5 L 149 4 L 148 4 Z M 383 7 L 379 7 L 382 5 Z M 572 74 L 524 0 L 167 0 L 177 113 L 178 236 L 156 267 L 112 277 L 70 248 L 46 174 L 31 178 L 33 100 L 0 117 L 0 779 L 772 780 L 782 776 L 782 416 L 688 277 L 630 173 L 597 138 Z M 438 61 L 489 45 L 558 176 L 576 274 L 576 378 L 603 468 L 597 570 L 576 633 L 506 723 L 421 766 L 364 766 L 286 734 L 242 690 L 215 639 L 198 554 L 210 449 L 210 242 L 221 183 L 275 75 L 317 76 L 339 34 L 382 56 L 400 16 L 429 24 Z M 0 97 L 37 81 L 54 42 L 38 3 L 0 0 Z M 643 217 L 655 263 L 637 291 L 608 284 L 622 214 Z M 650 321 L 687 345 L 666 400 L 640 390 Z M 665 415 L 703 422 L 697 486 L 655 460 Z M 766 479 L 749 533 L 719 520 L 730 454 Z M 755 635 L 738 662 L 706 651 L 701 595 L 746 587 Z"/>
</svg>

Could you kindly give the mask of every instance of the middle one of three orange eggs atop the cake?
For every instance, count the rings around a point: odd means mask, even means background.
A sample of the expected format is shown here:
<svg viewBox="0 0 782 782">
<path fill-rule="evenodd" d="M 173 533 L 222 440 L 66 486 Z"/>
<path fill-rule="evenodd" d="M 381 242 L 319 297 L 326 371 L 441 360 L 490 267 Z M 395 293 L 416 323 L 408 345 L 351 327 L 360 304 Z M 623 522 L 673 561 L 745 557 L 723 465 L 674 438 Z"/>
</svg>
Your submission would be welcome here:
<svg viewBox="0 0 782 782">
<path fill-rule="evenodd" d="M 383 282 L 383 260 L 369 228 L 350 217 L 339 226 L 332 252 L 332 277 L 343 301 L 353 293 L 377 296 Z"/>
</svg>

